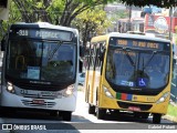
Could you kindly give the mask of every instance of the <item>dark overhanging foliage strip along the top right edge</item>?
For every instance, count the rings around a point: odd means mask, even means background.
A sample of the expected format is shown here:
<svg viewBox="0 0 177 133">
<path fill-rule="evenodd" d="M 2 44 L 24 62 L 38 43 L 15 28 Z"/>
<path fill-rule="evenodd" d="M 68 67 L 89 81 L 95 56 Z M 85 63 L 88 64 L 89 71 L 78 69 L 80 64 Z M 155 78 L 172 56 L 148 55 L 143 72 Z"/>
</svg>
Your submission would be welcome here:
<svg viewBox="0 0 177 133">
<path fill-rule="evenodd" d="M 127 6 L 144 7 L 154 4 L 162 8 L 176 7 L 177 0 L 118 0 Z"/>
</svg>

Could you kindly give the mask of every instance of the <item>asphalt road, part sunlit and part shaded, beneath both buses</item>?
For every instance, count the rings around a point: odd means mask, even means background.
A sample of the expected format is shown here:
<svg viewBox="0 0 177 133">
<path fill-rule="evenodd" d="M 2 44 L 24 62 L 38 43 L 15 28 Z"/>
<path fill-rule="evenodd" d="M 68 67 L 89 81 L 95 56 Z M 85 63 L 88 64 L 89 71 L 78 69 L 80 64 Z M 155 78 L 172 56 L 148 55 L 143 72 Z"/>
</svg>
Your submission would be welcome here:
<svg viewBox="0 0 177 133">
<path fill-rule="evenodd" d="M 22 125 L 27 127 L 25 131 L 18 130 L 14 127 L 12 131 L 0 131 L 0 133 L 39 133 L 41 131 L 29 131 L 28 127 L 31 125 L 43 125 L 41 129 L 46 129 L 46 131 L 42 131 L 42 133 L 58 133 L 60 132 L 81 132 L 92 130 L 92 132 L 100 132 L 100 130 L 148 130 L 153 129 L 154 124 L 152 124 L 152 117 L 148 120 L 135 119 L 131 114 L 122 113 L 121 115 L 113 115 L 107 113 L 105 120 L 97 120 L 95 115 L 87 113 L 88 105 L 84 102 L 84 93 L 82 91 L 79 92 L 77 95 L 77 105 L 76 111 L 73 112 L 73 117 L 71 122 L 64 122 L 60 117 L 51 116 L 49 113 L 40 113 L 40 112 L 22 112 L 18 111 L 13 113 L 10 111 L 9 114 L 0 117 L 0 123 L 17 125 Z M 162 124 L 170 125 L 173 122 L 168 120 L 163 120 Z M 171 125 L 170 125 L 171 126 Z M 177 126 L 176 126 L 177 127 Z M 52 130 L 52 131 L 50 131 Z M 177 129 L 176 129 L 177 130 Z M 96 132 L 96 133 L 97 133 Z"/>
</svg>

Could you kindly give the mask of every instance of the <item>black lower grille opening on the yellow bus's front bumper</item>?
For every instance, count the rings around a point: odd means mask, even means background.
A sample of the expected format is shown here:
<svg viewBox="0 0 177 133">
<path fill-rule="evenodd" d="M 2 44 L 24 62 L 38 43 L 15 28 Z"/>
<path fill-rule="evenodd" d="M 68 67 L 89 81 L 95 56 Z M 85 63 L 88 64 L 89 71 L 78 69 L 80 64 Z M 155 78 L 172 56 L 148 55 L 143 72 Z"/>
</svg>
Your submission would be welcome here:
<svg viewBox="0 0 177 133">
<path fill-rule="evenodd" d="M 127 102 L 119 102 L 117 101 L 117 104 L 122 109 L 128 109 L 129 106 L 139 108 L 140 111 L 148 111 L 153 106 L 152 104 L 137 104 L 137 103 L 127 103 Z"/>
</svg>

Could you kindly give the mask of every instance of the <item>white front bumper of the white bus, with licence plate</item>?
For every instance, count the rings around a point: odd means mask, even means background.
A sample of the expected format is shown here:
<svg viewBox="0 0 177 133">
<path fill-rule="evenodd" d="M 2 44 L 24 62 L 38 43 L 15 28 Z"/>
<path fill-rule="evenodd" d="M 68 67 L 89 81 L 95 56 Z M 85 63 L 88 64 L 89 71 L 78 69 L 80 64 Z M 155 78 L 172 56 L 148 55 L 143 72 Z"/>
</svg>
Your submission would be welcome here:
<svg viewBox="0 0 177 133">
<path fill-rule="evenodd" d="M 62 96 L 61 99 L 35 99 L 23 98 L 3 90 L 0 94 L 0 106 L 4 108 L 22 108 L 22 109 L 43 109 L 56 111 L 75 111 L 76 108 L 76 92 L 71 96 Z"/>
</svg>

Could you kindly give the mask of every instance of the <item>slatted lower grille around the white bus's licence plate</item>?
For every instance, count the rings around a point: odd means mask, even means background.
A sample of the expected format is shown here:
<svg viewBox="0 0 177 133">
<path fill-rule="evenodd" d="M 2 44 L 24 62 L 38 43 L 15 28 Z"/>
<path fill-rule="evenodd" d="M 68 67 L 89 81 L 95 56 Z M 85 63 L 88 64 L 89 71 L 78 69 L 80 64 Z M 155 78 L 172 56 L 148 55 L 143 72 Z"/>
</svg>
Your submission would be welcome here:
<svg viewBox="0 0 177 133">
<path fill-rule="evenodd" d="M 44 102 L 43 104 L 33 103 L 31 100 L 22 100 L 22 103 L 27 106 L 40 106 L 40 108 L 53 108 L 55 102 Z"/>
</svg>

